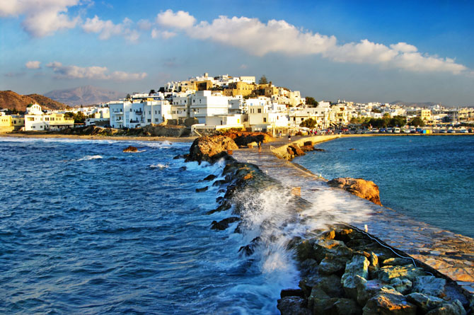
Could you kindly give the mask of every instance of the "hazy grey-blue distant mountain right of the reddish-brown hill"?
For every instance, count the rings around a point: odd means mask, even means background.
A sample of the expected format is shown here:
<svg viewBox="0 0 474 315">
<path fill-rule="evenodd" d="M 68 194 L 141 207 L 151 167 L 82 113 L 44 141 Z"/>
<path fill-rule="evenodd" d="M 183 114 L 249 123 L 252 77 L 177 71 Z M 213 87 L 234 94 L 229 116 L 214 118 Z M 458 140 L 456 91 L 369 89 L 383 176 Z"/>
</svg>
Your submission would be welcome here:
<svg viewBox="0 0 474 315">
<path fill-rule="evenodd" d="M 115 91 L 96 88 L 95 86 L 81 86 L 79 88 L 50 91 L 45 93 L 45 96 L 70 106 L 76 106 L 105 103 L 117 100 L 118 98 L 124 98 L 125 94 L 122 95 Z"/>
</svg>

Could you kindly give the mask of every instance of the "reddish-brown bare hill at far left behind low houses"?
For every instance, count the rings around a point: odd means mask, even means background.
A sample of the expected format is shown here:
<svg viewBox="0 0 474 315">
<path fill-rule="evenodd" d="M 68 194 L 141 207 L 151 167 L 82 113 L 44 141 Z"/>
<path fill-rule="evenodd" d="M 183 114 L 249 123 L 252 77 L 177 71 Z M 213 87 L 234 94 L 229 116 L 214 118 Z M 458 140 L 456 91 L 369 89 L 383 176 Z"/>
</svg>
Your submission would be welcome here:
<svg viewBox="0 0 474 315">
<path fill-rule="evenodd" d="M 42 96 L 40 94 L 20 95 L 13 91 L 0 91 L 0 108 L 16 109 L 24 111 L 31 103 L 38 103 L 42 109 L 61 110 L 66 105 Z"/>
</svg>

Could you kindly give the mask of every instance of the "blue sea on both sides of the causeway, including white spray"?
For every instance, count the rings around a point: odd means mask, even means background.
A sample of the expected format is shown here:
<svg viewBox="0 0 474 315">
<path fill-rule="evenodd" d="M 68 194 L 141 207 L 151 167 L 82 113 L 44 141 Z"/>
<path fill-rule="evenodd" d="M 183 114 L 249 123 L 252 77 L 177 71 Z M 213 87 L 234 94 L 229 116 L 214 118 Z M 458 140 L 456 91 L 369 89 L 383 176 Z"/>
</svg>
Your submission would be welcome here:
<svg viewBox="0 0 474 315">
<path fill-rule="evenodd" d="M 373 180 L 384 205 L 473 236 L 473 140 L 337 139 L 296 161 L 326 178 Z M 138 151 L 122 152 L 129 145 Z M 0 137 L 0 314 L 279 314 L 280 291 L 299 282 L 289 241 L 370 210 L 277 167 L 282 185 L 237 196 L 240 233 L 238 222 L 213 230 L 233 215 L 208 214 L 225 192 L 213 185 L 224 162 L 185 162 L 189 148 Z M 306 210 L 291 207 L 292 185 L 308 188 Z"/>
</svg>

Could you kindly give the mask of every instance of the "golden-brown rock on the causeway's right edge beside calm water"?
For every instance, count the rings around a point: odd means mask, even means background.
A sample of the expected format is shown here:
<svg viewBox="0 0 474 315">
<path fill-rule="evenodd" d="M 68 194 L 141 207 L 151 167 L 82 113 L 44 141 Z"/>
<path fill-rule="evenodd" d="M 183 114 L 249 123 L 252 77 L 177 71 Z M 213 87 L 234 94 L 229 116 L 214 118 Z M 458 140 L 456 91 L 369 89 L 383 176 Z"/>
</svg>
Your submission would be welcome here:
<svg viewBox="0 0 474 315">
<path fill-rule="evenodd" d="M 357 197 L 374 202 L 376 205 L 382 205 L 378 186 L 373 181 L 365 181 L 362 178 L 334 178 L 328 181 L 328 185 L 347 190 Z"/>
</svg>

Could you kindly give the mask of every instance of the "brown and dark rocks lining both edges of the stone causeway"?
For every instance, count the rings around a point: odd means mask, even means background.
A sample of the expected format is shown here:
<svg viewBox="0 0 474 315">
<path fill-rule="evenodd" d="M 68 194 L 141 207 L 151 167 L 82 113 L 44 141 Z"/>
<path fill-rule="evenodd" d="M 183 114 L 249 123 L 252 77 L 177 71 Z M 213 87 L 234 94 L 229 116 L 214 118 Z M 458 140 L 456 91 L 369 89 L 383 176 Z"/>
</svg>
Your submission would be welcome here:
<svg viewBox="0 0 474 315">
<path fill-rule="evenodd" d="M 186 161 L 214 163 L 224 159 L 226 163 L 224 180 L 209 176 L 203 180 L 213 181 L 210 185 L 219 185 L 219 191 L 225 193 L 209 214 L 233 208 L 231 217 L 213 221 L 211 229 L 228 229 L 230 224 L 241 222 L 242 205 L 236 196 L 242 190 L 281 188 L 258 166 L 233 159 L 228 152 L 234 149 L 238 145 L 224 135 L 202 137 L 195 139 L 185 156 Z M 328 185 L 380 205 L 378 188 L 372 182 L 336 178 Z M 299 212 L 308 203 L 294 195 L 292 205 Z M 251 255 L 258 242 L 257 237 L 239 251 Z M 295 253 L 302 279 L 298 290 L 282 291 L 278 301 L 282 314 L 470 314 L 474 307 L 472 295 L 456 282 L 354 227 L 338 225 L 308 231 L 305 239 L 292 240 L 288 249 Z"/>
</svg>

